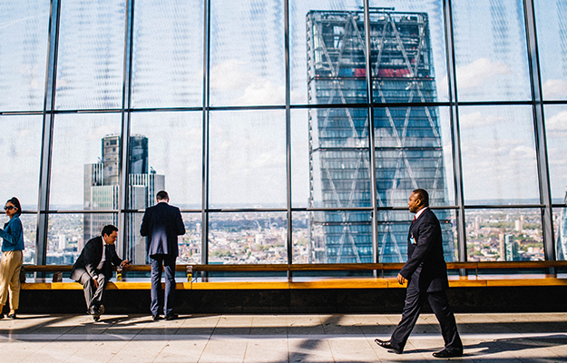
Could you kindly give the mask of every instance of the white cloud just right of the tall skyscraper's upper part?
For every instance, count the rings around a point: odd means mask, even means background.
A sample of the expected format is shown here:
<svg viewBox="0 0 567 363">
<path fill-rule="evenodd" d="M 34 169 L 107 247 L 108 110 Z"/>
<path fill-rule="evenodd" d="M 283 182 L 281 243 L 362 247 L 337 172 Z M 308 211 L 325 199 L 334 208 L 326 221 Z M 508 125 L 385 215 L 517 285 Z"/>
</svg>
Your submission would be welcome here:
<svg viewBox="0 0 567 363">
<path fill-rule="evenodd" d="M 457 87 L 463 90 L 485 85 L 487 80 L 499 74 L 510 74 L 510 66 L 488 58 L 479 58 L 471 64 L 457 67 Z"/>
</svg>

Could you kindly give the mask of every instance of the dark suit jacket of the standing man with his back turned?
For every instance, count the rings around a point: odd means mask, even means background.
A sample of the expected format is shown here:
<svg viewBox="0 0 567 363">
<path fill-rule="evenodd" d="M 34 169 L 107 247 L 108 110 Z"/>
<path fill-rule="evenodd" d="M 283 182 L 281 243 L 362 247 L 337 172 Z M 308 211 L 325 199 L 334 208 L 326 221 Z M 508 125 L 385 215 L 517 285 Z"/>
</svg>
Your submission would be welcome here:
<svg viewBox="0 0 567 363">
<path fill-rule="evenodd" d="M 164 254 L 179 256 L 177 236 L 185 234 L 181 211 L 166 202 L 159 202 L 143 214 L 140 234 L 147 236 L 148 256 Z"/>
</svg>

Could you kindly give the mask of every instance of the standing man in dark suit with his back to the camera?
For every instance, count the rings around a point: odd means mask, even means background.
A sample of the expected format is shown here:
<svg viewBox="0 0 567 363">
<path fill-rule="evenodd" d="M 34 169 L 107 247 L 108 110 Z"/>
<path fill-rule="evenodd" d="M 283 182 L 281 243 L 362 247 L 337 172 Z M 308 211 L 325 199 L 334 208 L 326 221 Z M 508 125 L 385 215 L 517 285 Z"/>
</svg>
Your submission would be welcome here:
<svg viewBox="0 0 567 363">
<path fill-rule="evenodd" d="M 161 270 L 165 267 L 163 314 L 166 320 L 177 319 L 173 313 L 175 294 L 175 259 L 179 255 L 177 236 L 185 234 L 181 211 L 169 205 L 167 191 L 158 191 L 157 204 L 146 209 L 140 234 L 147 236 L 146 250 L 152 265 L 152 319 L 160 319 L 158 291 L 161 289 Z"/>
</svg>

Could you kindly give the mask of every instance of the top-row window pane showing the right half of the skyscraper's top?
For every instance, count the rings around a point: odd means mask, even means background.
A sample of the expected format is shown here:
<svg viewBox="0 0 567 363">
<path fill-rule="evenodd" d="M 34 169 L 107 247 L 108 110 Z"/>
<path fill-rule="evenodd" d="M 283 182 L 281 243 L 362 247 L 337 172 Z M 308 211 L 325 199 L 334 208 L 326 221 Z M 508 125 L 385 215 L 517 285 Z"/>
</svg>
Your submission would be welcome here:
<svg viewBox="0 0 567 363">
<path fill-rule="evenodd" d="M 442 3 L 370 2 L 396 9 L 370 13 L 375 102 L 447 101 Z"/>
</svg>

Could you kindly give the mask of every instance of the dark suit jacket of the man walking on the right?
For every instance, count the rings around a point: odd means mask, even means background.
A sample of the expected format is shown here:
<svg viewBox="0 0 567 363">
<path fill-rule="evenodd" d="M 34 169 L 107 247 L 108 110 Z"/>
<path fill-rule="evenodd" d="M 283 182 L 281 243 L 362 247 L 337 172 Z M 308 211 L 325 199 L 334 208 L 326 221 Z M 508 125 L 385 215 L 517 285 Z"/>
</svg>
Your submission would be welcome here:
<svg viewBox="0 0 567 363">
<path fill-rule="evenodd" d="M 411 241 L 412 236 L 415 243 Z M 449 287 L 441 225 L 429 208 L 409 228 L 407 262 L 400 274 L 408 280 L 407 289 L 434 292 Z"/>
</svg>

